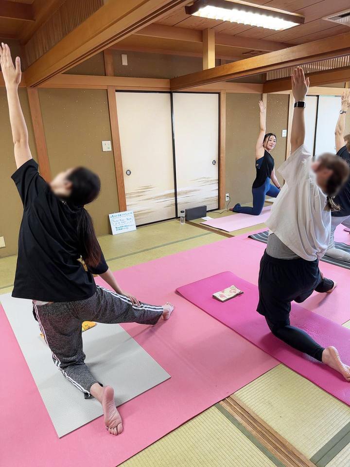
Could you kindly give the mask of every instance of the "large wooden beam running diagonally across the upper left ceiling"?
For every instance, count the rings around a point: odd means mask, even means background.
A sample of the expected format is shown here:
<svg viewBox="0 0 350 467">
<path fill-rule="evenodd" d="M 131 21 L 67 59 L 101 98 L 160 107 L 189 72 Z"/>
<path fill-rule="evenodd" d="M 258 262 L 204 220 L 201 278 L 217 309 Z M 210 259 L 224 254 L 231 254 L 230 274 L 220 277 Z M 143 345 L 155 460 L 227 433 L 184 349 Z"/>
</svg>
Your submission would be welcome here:
<svg viewBox="0 0 350 467">
<path fill-rule="evenodd" d="M 188 0 L 108 1 L 26 70 L 34 87 L 184 6 Z"/>
</svg>

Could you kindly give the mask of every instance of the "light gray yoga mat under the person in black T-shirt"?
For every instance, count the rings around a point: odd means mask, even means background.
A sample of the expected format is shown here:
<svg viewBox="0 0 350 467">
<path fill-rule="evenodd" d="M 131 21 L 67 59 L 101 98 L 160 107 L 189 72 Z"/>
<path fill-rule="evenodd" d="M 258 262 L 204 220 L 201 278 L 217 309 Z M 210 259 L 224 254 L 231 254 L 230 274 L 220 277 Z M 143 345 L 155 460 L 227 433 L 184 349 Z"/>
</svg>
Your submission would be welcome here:
<svg viewBox="0 0 350 467">
<path fill-rule="evenodd" d="M 102 415 L 100 403 L 84 399 L 53 364 L 51 351 L 40 337 L 32 302 L 0 295 L 36 386 L 59 437 Z M 86 363 L 93 375 L 115 390 L 116 405 L 148 391 L 170 378 L 119 324 L 98 323 L 83 332 Z"/>
</svg>

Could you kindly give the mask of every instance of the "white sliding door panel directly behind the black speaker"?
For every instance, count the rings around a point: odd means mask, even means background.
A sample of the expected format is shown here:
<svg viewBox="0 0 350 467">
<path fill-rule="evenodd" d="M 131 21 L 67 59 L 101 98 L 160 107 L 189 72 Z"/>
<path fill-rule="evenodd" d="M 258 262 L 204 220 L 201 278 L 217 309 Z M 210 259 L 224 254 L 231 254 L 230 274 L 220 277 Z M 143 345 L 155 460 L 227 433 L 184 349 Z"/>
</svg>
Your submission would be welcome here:
<svg viewBox="0 0 350 467">
<path fill-rule="evenodd" d="M 203 204 L 217 209 L 219 96 L 175 92 L 173 103 L 178 214 Z"/>
</svg>

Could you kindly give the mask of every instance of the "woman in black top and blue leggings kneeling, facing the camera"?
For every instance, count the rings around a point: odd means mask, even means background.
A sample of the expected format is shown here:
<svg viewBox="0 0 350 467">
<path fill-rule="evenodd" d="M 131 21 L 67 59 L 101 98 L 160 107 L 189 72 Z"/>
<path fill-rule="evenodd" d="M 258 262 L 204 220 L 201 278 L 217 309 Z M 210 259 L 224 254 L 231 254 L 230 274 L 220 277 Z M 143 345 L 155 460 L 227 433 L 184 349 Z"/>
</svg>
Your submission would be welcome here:
<svg viewBox="0 0 350 467">
<path fill-rule="evenodd" d="M 259 216 L 262 212 L 266 195 L 276 198 L 280 193 L 280 183 L 276 178 L 274 169 L 275 161 L 270 154 L 276 146 L 276 135 L 274 133 L 265 134 L 266 117 L 262 101 L 259 101 L 259 107 L 260 131 L 255 151 L 256 178 L 252 186 L 253 207 L 242 207 L 240 203 L 237 203 L 230 209 L 234 213 L 251 214 L 253 216 Z M 271 180 L 274 184 L 271 183 Z"/>
</svg>

